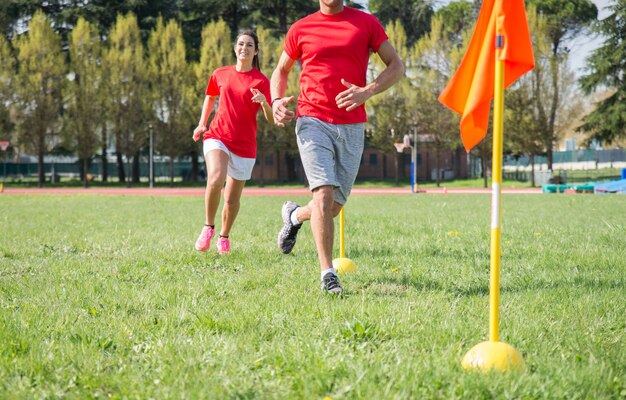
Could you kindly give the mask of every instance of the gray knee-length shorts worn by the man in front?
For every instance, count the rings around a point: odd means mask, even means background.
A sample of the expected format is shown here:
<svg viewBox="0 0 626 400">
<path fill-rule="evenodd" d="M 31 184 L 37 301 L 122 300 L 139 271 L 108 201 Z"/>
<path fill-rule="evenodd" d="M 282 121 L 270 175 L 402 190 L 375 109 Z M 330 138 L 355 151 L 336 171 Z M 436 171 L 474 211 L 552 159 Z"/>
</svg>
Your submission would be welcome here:
<svg viewBox="0 0 626 400">
<path fill-rule="evenodd" d="M 335 187 L 335 201 L 346 204 L 359 172 L 365 124 L 330 124 L 314 117 L 298 117 L 296 137 L 311 190 Z"/>
</svg>

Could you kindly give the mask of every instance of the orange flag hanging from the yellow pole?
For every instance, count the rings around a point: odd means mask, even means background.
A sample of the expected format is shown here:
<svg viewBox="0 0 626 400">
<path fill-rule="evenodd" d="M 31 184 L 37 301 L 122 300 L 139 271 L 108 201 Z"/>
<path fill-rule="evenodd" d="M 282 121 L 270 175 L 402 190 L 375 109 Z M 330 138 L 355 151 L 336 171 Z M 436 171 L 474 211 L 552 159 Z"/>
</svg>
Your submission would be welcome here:
<svg viewBox="0 0 626 400">
<path fill-rule="evenodd" d="M 524 0 L 483 0 L 476 28 L 459 69 L 439 101 L 461 114 L 461 139 L 468 152 L 485 137 L 494 96 L 496 19 L 504 37 L 504 87 L 533 69 L 535 60 Z"/>
</svg>

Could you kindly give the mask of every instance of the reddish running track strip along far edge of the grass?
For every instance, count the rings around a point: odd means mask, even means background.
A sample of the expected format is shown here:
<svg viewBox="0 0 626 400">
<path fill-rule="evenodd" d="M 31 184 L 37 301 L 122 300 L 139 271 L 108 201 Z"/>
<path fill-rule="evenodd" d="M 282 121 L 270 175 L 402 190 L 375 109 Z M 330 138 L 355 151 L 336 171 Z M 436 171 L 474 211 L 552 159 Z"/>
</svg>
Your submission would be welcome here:
<svg viewBox="0 0 626 400">
<path fill-rule="evenodd" d="M 491 189 L 484 188 L 456 188 L 456 189 L 426 189 L 425 194 L 490 194 Z M 422 193 L 422 194 L 423 194 Z M 502 189 L 503 194 L 541 193 L 539 188 Z M 4 188 L 2 195 L 37 195 L 37 194 L 101 194 L 114 196 L 204 196 L 204 188 Z M 310 192 L 306 188 L 247 188 L 244 196 L 306 196 Z M 352 194 L 377 195 L 377 194 L 411 194 L 410 188 L 354 188 Z"/>
</svg>

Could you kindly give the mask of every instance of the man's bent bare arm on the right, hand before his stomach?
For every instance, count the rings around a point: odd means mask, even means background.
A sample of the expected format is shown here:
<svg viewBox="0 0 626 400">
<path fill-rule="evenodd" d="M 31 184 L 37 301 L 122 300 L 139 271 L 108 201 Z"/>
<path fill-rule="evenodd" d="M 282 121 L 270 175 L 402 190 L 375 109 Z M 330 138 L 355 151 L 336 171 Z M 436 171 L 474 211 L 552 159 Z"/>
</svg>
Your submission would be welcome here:
<svg viewBox="0 0 626 400">
<path fill-rule="evenodd" d="M 356 86 L 342 79 L 341 83 L 343 83 L 348 90 L 344 90 L 335 97 L 337 107 L 345 108 L 346 111 L 352 111 L 375 94 L 389 89 L 402 78 L 404 75 L 404 64 L 396 52 L 396 49 L 389 43 L 389 40 L 385 40 L 381 43 L 378 48 L 378 56 L 386 65 L 383 72 L 381 72 L 372 83 L 365 87 Z"/>
</svg>

